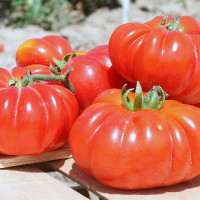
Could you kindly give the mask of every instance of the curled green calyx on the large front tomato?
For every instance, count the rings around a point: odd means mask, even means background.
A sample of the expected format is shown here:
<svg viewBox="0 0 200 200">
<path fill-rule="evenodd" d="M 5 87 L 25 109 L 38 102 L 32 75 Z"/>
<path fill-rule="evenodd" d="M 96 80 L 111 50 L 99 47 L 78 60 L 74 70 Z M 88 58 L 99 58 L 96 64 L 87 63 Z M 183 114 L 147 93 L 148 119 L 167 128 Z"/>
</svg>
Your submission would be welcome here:
<svg viewBox="0 0 200 200">
<path fill-rule="evenodd" d="M 143 96 L 142 87 L 139 82 L 137 82 L 136 90 L 135 90 L 135 100 L 134 103 L 129 99 L 128 94 L 133 89 L 126 90 L 126 85 L 122 88 L 122 101 L 124 104 L 124 107 L 127 110 L 131 111 L 139 111 L 143 109 L 155 109 L 160 110 L 164 103 L 165 99 L 167 97 L 166 92 L 160 87 L 160 86 L 154 86 L 146 95 L 146 97 Z"/>
</svg>

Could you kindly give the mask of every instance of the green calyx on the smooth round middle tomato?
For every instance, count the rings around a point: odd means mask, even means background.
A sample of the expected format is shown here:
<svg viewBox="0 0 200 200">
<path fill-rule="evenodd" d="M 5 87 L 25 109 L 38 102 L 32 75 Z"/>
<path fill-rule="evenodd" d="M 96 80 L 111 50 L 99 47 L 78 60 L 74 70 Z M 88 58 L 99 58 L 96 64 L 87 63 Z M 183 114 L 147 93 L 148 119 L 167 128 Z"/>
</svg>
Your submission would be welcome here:
<svg viewBox="0 0 200 200">
<path fill-rule="evenodd" d="M 76 51 L 72 50 L 72 52 L 73 53 L 69 53 L 66 56 L 64 56 L 64 58 L 61 61 L 54 58 L 53 61 L 55 63 L 55 66 L 53 66 L 52 63 L 49 63 L 50 71 L 55 75 L 61 74 L 61 71 L 64 68 L 64 66 L 70 61 L 69 59 L 78 56 L 78 53 Z"/>
</svg>

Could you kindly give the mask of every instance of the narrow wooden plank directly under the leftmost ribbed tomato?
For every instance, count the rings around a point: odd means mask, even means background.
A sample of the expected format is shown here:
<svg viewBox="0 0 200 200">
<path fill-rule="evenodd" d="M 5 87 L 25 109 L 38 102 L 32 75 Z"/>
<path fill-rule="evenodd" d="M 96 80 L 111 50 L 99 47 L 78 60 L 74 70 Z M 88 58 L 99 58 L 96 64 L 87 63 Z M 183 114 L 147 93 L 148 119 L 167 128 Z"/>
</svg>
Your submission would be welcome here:
<svg viewBox="0 0 200 200">
<path fill-rule="evenodd" d="M 32 164 L 38 162 L 44 162 L 49 160 L 58 160 L 69 158 L 71 153 L 69 151 L 69 145 L 66 143 L 61 148 L 51 151 L 45 152 L 40 155 L 35 156 L 7 156 L 7 155 L 0 155 L 0 169 L 19 166 L 24 164 Z"/>
</svg>

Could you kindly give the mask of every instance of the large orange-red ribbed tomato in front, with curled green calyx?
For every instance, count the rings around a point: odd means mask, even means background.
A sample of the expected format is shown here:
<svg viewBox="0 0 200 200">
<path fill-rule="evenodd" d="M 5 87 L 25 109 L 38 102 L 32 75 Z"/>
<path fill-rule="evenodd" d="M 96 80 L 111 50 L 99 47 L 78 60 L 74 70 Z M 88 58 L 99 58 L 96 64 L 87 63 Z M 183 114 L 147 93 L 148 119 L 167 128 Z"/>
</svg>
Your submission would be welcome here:
<svg viewBox="0 0 200 200">
<path fill-rule="evenodd" d="M 82 170 L 120 189 L 167 186 L 200 174 L 200 108 L 175 100 L 161 107 L 164 98 L 158 102 L 156 90 L 143 101 L 141 92 L 129 93 L 134 104 L 128 110 L 130 101 L 122 101 L 121 90 L 110 89 L 83 111 L 69 136 Z"/>
</svg>

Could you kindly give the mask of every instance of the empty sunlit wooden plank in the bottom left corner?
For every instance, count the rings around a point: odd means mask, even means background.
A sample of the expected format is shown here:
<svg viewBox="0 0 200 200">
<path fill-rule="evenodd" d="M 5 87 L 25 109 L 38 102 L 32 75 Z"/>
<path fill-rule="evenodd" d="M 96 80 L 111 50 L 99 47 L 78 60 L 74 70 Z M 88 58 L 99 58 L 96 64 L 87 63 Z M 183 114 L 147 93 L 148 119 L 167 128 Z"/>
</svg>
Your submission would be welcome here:
<svg viewBox="0 0 200 200">
<path fill-rule="evenodd" d="M 87 198 L 33 166 L 0 170 L 1 200 L 86 200 Z"/>
</svg>

